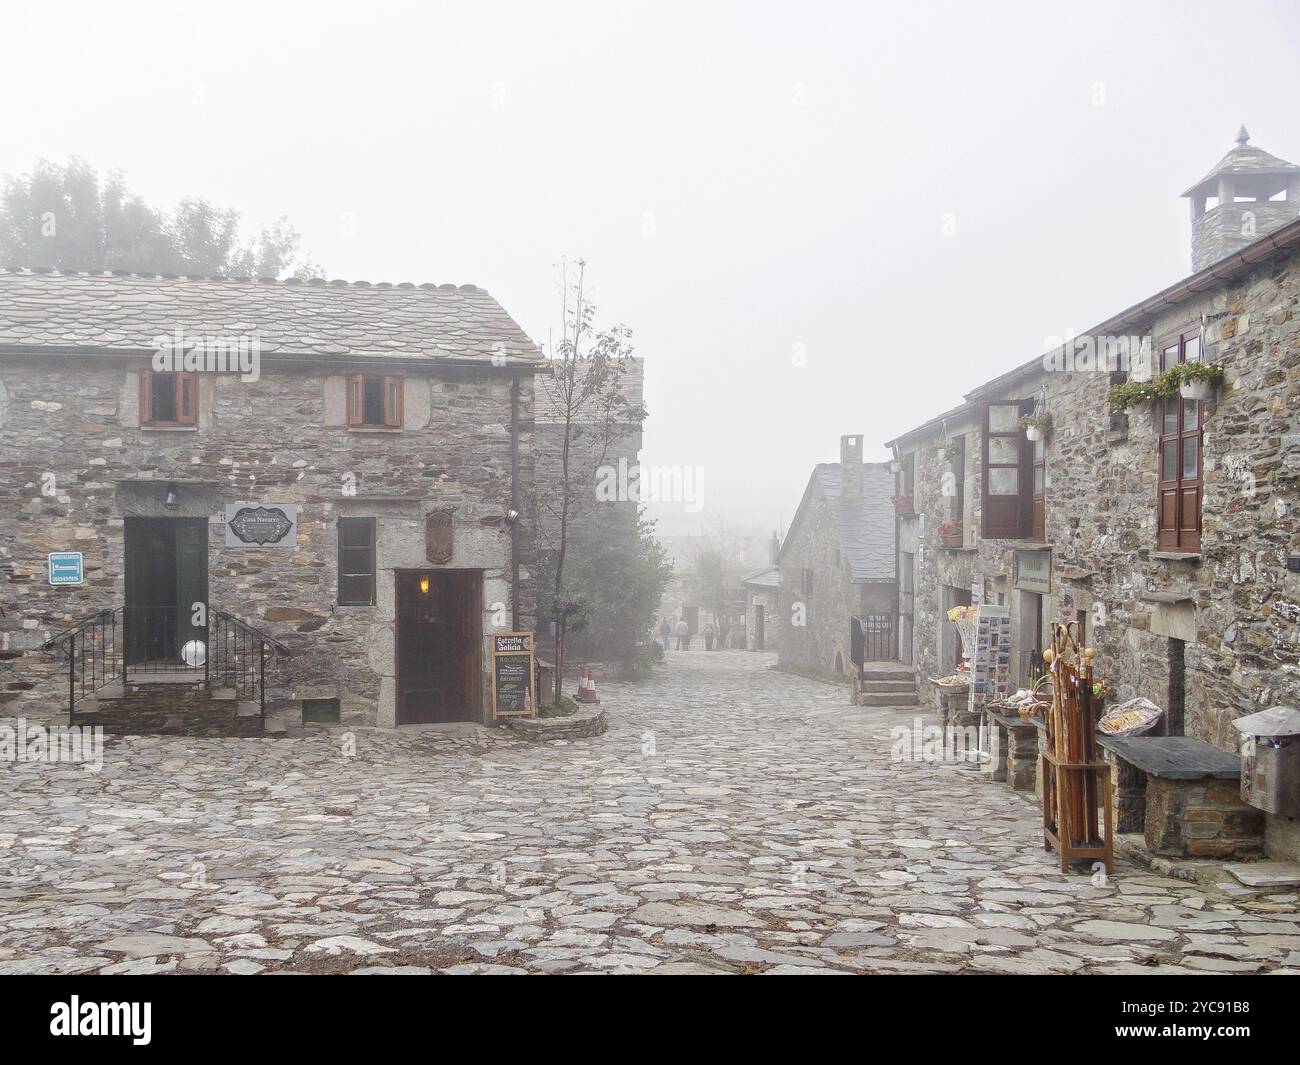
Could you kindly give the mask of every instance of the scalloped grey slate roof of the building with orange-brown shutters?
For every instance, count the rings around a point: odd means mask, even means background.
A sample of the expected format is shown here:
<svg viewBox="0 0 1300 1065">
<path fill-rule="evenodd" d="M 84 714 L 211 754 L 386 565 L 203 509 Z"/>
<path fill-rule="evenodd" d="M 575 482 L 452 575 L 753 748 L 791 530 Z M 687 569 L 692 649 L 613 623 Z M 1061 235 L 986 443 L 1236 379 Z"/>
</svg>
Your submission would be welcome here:
<svg viewBox="0 0 1300 1065">
<path fill-rule="evenodd" d="M 153 351 L 177 326 L 212 337 L 256 329 L 263 355 L 490 363 L 499 351 L 506 364 L 543 362 L 473 285 L 0 269 L 0 348 Z"/>
</svg>

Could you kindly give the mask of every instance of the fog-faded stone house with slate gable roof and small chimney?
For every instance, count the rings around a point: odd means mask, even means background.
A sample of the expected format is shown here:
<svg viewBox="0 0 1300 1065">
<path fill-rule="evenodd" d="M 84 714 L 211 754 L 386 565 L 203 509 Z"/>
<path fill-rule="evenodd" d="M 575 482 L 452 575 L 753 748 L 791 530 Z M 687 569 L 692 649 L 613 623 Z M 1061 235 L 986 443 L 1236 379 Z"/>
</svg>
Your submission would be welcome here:
<svg viewBox="0 0 1300 1065">
<path fill-rule="evenodd" d="M 840 437 L 840 462 L 812 469 L 777 558 L 777 664 L 814 676 L 853 672 L 853 616 L 870 619 L 868 657 L 896 654 L 894 479 Z"/>
</svg>

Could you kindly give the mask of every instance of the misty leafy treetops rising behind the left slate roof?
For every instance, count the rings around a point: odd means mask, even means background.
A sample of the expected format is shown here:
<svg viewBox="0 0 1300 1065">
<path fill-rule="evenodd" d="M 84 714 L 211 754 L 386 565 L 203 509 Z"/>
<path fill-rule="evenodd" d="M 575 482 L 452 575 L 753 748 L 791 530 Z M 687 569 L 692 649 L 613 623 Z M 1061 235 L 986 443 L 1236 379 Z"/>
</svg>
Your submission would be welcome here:
<svg viewBox="0 0 1300 1065">
<path fill-rule="evenodd" d="M 203 199 L 174 212 L 144 203 L 121 173 L 42 160 L 0 192 L 0 264 L 58 270 L 130 270 L 191 277 L 317 277 L 299 235 L 281 218 L 239 241 L 239 213 Z"/>
</svg>

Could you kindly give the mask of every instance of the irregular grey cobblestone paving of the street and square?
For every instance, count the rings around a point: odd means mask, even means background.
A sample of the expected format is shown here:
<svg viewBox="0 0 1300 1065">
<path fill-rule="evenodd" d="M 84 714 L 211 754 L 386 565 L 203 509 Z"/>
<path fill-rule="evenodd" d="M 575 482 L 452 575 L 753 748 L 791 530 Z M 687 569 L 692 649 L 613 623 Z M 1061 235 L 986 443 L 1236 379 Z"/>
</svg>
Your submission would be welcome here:
<svg viewBox="0 0 1300 1065">
<path fill-rule="evenodd" d="M 0 765 L 0 973 L 1256 973 L 1295 895 L 1062 876 L 1037 806 L 892 762 L 911 710 L 672 653 L 610 731 L 112 740 Z"/>
</svg>

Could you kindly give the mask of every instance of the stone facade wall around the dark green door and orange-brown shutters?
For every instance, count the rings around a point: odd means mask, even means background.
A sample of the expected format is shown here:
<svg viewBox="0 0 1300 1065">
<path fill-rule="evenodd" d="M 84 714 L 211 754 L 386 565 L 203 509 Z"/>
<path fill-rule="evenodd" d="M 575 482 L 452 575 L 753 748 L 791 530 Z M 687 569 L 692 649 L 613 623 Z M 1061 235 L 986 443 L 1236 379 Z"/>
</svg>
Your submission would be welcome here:
<svg viewBox="0 0 1300 1065">
<path fill-rule="evenodd" d="M 4 713 L 65 713 L 61 667 L 36 648 L 74 618 L 122 605 L 126 516 L 207 518 L 211 609 L 294 651 L 276 662 L 268 696 L 337 697 L 344 722 L 394 723 L 394 571 L 432 568 L 424 533 L 430 510 L 455 512 L 448 568 L 482 570 L 484 632 L 511 623 L 511 536 L 499 520 L 511 498 L 508 373 L 412 367 L 404 375 L 406 427 L 359 430 L 344 424 L 344 368 L 268 362 L 250 384 L 200 375 L 196 429 L 148 429 L 138 424 L 144 360 L 6 360 L 0 372 L 0 640 L 26 654 L 4 675 Z M 519 447 L 524 628 L 534 625 L 532 386 L 525 373 Z M 177 508 L 162 506 L 169 482 L 179 488 Z M 229 502 L 298 505 L 296 549 L 225 547 Z M 338 605 L 339 516 L 377 519 L 376 606 Z M 83 586 L 47 584 L 46 554 L 56 550 L 84 553 Z M 44 676 L 53 687 L 42 684 Z"/>
</svg>

